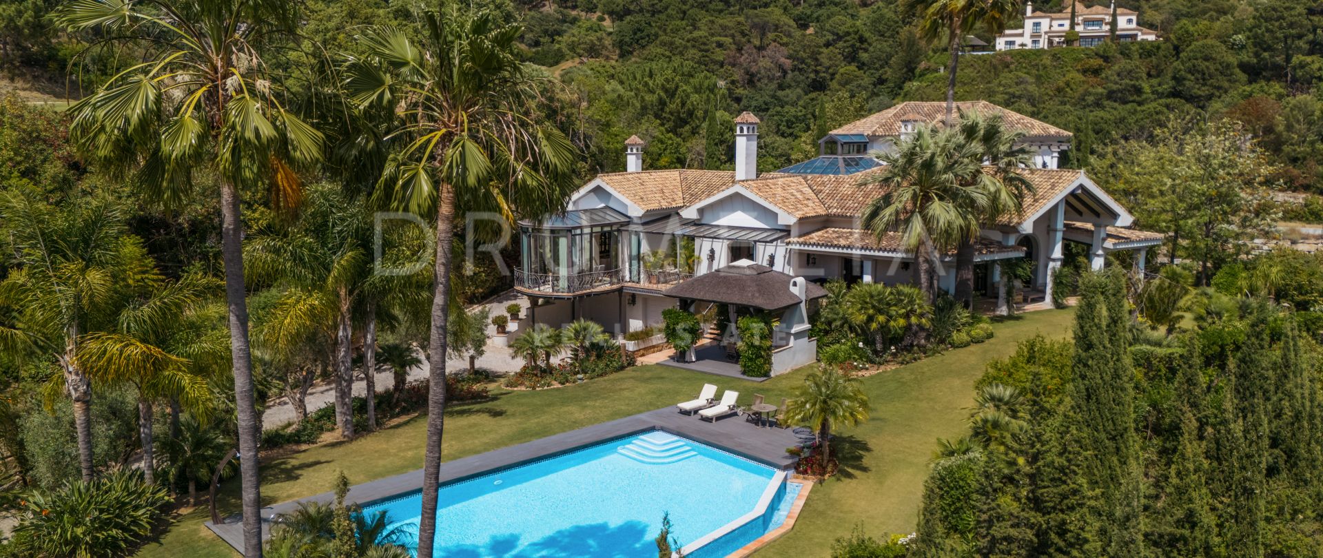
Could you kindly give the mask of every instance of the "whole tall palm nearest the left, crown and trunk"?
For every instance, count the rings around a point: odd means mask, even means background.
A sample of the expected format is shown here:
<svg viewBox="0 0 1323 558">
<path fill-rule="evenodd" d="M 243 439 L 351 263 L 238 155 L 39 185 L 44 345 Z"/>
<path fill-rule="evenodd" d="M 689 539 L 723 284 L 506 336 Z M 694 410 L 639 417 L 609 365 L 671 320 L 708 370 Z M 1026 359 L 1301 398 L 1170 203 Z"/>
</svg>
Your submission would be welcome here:
<svg viewBox="0 0 1323 558">
<path fill-rule="evenodd" d="M 262 56 L 300 22 L 278 0 L 69 0 L 53 13 L 99 46 L 142 62 L 70 107 L 74 141 L 108 169 L 136 175 L 144 193 L 179 205 L 206 169 L 220 190 L 221 255 L 243 484 L 243 554 L 262 555 L 258 417 L 247 339 L 239 190 L 270 185 L 277 205 L 299 197 L 294 167 L 321 156 L 321 135 L 288 110 Z"/>
</svg>

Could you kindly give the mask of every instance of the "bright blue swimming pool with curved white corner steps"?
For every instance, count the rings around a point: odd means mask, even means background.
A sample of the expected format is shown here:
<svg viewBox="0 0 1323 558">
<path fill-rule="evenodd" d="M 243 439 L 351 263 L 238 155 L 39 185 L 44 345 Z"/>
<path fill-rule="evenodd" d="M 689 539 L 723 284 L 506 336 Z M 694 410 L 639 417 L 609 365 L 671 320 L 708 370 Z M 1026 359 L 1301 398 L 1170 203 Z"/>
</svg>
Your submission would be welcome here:
<svg viewBox="0 0 1323 558">
<path fill-rule="evenodd" d="M 779 526 L 795 493 L 781 471 L 651 431 L 443 485 L 434 549 L 456 558 L 656 555 L 669 513 L 691 555 L 717 557 Z M 386 512 L 417 543 L 421 508 L 411 493 L 364 513 Z"/>
</svg>

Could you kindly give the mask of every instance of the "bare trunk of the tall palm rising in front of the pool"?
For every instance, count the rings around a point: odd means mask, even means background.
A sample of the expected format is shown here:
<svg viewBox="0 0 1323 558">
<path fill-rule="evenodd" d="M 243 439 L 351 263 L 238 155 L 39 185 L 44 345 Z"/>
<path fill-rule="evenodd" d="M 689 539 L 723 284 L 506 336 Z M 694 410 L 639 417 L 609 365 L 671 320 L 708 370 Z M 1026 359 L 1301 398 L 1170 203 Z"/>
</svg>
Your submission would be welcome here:
<svg viewBox="0 0 1323 558">
<path fill-rule="evenodd" d="M 441 436 L 446 420 L 446 327 L 450 321 L 450 242 L 455 225 L 455 190 L 446 182 L 441 182 L 438 190 L 437 267 L 433 275 L 431 337 L 427 345 L 427 446 L 422 465 L 418 558 L 431 558 L 433 539 L 437 537 L 437 485 L 441 475 Z"/>
</svg>

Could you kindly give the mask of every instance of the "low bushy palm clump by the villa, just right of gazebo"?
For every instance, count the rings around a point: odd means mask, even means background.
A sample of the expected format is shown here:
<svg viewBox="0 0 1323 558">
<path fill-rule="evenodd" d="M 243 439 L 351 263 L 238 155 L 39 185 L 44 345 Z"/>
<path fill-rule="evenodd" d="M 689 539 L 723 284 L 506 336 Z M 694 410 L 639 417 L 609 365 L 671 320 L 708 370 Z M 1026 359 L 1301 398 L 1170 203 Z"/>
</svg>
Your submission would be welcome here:
<svg viewBox="0 0 1323 558">
<path fill-rule="evenodd" d="M 910 286 L 888 287 L 881 283 L 856 284 L 845 295 L 845 316 L 863 332 L 873 336 L 877 352 L 890 346 L 890 339 L 908 335 L 913 328 L 927 328 L 931 307 Z"/>
</svg>

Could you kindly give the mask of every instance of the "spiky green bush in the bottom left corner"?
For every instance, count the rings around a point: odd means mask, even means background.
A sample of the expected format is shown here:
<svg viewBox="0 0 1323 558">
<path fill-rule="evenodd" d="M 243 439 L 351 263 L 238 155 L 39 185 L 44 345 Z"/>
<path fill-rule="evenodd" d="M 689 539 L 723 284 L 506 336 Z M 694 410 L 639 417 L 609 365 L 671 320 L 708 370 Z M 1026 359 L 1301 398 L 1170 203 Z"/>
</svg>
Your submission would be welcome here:
<svg viewBox="0 0 1323 558">
<path fill-rule="evenodd" d="M 165 488 L 142 472 L 115 471 L 91 483 L 65 483 L 19 501 L 13 545 L 19 555 L 126 557 L 165 517 Z"/>
</svg>

